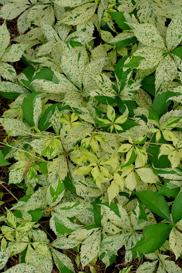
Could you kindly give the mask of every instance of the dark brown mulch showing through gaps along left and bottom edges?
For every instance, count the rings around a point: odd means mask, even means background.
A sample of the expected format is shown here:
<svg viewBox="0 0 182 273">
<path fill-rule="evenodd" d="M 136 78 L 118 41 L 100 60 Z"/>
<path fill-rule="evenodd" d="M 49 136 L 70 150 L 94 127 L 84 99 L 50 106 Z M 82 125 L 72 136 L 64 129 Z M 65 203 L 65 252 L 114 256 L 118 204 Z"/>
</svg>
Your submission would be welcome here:
<svg viewBox="0 0 182 273">
<path fill-rule="evenodd" d="M 2 23 L 4 22 L 4 19 L 0 18 L 0 25 L 2 25 Z M 9 29 L 10 32 L 10 44 L 14 43 L 12 41 L 13 38 L 19 36 L 19 32 L 17 29 L 17 19 L 13 19 L 13 20 L 6 20 L 6 25 L 7 28 Z M 21 73 L 22 70 L 25 68 L 24 63 L 20 60 L 18 62 L 15 63 L 11 63 L 17 74 Z M 10 99 L 5 99 L 2 98 L 2 96 L 0 96 L 0 104 L 1 104 L 1 111 L 0 111 L 0 116 L 2 116 L 2 114 L 9 109 L 9 104 L 12 103 L 13 100 Z M 6 137 L 6 132 L 5 130 L 2 128 L 2 126 L 0 127 L 0 142 L 3 142 L 3 140 Z M 2 148 L 4 147 L 3 144 L 0 144 L 0 149 L 2 150 Z M 6 173 L 8 172 L 8 166 L 2 166 L 0 167 L 0 181 L 4 182 L 3 185 L 18 199 L 20 199 L 23 196 L 23 190 L 19 187 L 16 186 L 8 186 L 6 184 Z M 8 190 L 5 190 L 5 188 L 2 186 L 2 184 L 0 184 L 0 192 L 3 192 L 3 197 L 2 197 L 2 201 L 5 202 L 5 204 L 3 204 L 0 207 L 0 214 L 4 214 L 5 211 L 5 207 L 7 208 L 11 208 L 12 204 L 16 203 L 15 198 L 13 197 L 12 194 L 10 194 L 8 192 Z M 46 222 L 46 221 L 42 221 L 42 222 Z M 46 223 L 41 223 L 42 224 L 42 229 L 45 229 L 48 234 L 51 233 L 52 231 L 49 228 L 49 225 Z M 54 237 L 54 235 L 52 235 Z M 52 237 L 51 236 L 51 237 Z M 74 252 L 72 249 L 67 249 L 67 250 L 62 250 L 62 252 L 64 254 L 66 254 L 71 260 L 72 263 L 74 265 L 74 269 L 77 272 L 81 271 L 81 268 L 78 268 L 75 262 L 75 257 L 76 257 L 76 252 Z M 130 270 L 131 273 L 136 272 L 136 269 L 139 267 L 139 265 L 145 261 L 149 261 L 151 262 L 151 260 L 147 259 L 147 258 L 143 258 L 142 261 L 139 263 L 139 261 L 137 259 L 134 259 L 133 261 L 131 261 L 128 264 L 124 263 L 124 258 L 125 258 L 125 249 L 124 247 L 121 248 L 119 251 L 117 251 L 118 256 L 116 257 L 116 261 L 113 262 L 113 265 L 110 265 L 108 268 L 105 268 L 105 265 L 102 261 L 97 261 L 96 265 L 94 265 L 93 267 L 96 270 L 96 273 L 119 273 L 119 271 L 127 266 L 133 266 Z M 169 255 L 170 258 L 168 258 L 171 261 L 175 261 L 175 256 L 174 253 L 170 252 L 170 251 L 162 251 L 161 254 L 166 254 Z M 19 259 L 19 254 L 14 255 L 13 257 L 10 257 L 7 265 L 4 267 L 4 269 L 0 270 L 0 272 L 4 272 L 6 271 L 8 268 L 11 268 L 12 266 L 15 266 L 18 264 L 18 259 Z M 178 258 L 176 261 L 176 264 L 182 268 L 182 259 Z M 84 271 L 87 273 L 91 273 L 89 267 L 85 267 Z M 46 273 L 46 272 L 45 272 Z M 53 270 L 52 273 L 60 273 L 60 271 L 56 268 L 56 265 L 53 263 Z M 175 273 L 175 272 L 174 272 Z"/>
</svg>

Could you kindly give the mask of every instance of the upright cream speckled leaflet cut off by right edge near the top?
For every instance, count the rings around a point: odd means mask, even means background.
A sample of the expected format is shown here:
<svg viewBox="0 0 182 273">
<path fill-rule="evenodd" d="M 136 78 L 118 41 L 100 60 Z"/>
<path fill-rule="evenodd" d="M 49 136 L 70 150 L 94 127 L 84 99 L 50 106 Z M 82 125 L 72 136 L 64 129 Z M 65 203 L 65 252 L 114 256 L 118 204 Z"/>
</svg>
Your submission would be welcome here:
<svg viewBox="0 0 182 273">
<path fill-rule="evenodd" d="M 179 13 L 173 17 L 166 34 L 166 42 L 168 50 L 174 49 L 182 41 L 182 15 Z"/>
</svg>

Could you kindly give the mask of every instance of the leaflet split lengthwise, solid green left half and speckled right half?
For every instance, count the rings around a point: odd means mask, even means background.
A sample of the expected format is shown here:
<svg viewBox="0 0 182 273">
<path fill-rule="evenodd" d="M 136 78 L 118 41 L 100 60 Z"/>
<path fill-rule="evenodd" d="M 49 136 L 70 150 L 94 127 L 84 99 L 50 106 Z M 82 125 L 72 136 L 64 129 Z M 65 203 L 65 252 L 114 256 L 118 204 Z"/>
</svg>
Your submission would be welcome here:
<svg viewBox="0 0 182 273">
<path fill-rule="evenodd" d="M 41 92 L 29 94 L 22 104 L 22 111 L 26 122 L 31 126 L 38 127 L 39 116 L 42 112 Z"/>
</svg>

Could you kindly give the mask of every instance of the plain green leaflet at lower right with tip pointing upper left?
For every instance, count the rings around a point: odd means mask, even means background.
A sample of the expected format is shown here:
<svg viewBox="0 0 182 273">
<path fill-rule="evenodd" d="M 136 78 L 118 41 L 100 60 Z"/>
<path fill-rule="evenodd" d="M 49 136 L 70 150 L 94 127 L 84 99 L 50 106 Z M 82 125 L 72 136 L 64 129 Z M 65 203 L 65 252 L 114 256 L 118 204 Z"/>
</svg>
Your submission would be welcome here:
<svg viewBox="0 0 182 273">
<path fill-rule="evenodd" d="M 151 190 L 143 190 L 134 193 L 152 212 L 171 222 L 169 206 L 162 195 L 158 195 L 157 192 L 153 192 Z"/>
</svg>

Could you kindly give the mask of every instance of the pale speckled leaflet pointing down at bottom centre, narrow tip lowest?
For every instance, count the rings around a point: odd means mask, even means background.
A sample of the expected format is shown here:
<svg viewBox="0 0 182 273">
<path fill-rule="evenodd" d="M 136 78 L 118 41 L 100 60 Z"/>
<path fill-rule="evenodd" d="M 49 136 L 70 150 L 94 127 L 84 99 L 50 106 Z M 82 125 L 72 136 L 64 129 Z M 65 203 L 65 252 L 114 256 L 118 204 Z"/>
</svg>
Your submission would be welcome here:
<svg viewBox="0 0 182 273">
<path fill-rule="evenodd" d="M 84 268 L 90 261 L 95 258 L 100 249 L 100 231 L 90 235 L 83 243 L 80 251 L 80 261 Z"/>
</svg>

